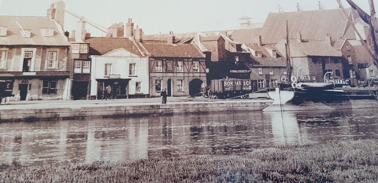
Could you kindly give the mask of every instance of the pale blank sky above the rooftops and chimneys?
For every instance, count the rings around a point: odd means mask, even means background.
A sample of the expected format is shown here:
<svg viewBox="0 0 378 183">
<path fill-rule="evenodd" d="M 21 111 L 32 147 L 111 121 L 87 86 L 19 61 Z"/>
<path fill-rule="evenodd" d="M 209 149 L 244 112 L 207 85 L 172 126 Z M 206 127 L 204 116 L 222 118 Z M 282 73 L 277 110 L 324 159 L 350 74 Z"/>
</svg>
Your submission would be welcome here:
<svg viewBox="0 0 378 183">
<path fill-rule="evenodd" d="M 239 29 L 240 17 L 253 18 L 252 23 L 264 22 L 269 12 L 296 11 L 299 3 L 304 11 L 317 10 L 319 0 L 64 0 L 68 11 L 84 16 L 105 28 L 132 18 L 144 34 L 167 34 L 212 30 Z M 325 9 L 336 9 L 336 0 L 320 0 Z M 46 16 L 46 10 L 56 0 L 0 0 L 0 15 Z M 368 0 L 353 0 L 369 12 Z M 345 8 L 348 3 L 342 0 Z M 374 0 L 378 10 L 378 0 Z M 75 29 L 78 19 L 65 14 L 64 30 Z M 0 23 L 1 24 L 1 23 Z M 87 25 L 92 36 L 105 36 Z"/>
</svg>

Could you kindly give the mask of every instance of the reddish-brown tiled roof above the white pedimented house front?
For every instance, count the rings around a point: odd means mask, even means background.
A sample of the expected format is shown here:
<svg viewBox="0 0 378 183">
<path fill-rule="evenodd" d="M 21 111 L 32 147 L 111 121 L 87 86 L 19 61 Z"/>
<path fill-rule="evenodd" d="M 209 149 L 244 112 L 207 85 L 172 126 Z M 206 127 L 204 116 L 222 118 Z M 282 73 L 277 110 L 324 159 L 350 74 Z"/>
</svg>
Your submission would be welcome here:
<svg viewBox="0 0 378 183">
<path fill-rule="evenodd" d="M 142 56 L 137 45 L 129 38 L 104 38 L 104 37 L 92 37 L 85 40 L 86 43 L 90 43 L 89 54 L 90 55 L 103 55 L 111 50 L 123 48 L 130 53 L 138 56 Z"/>
</svg>

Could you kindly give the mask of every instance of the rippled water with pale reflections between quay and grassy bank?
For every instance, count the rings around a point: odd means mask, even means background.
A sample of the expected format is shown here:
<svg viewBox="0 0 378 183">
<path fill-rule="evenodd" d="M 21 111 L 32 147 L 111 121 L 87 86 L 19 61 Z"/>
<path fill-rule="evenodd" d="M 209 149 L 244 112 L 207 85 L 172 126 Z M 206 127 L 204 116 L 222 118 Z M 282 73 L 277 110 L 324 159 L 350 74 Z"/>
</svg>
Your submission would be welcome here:
<svg viewBox="0 0 378 183">
<path fill-rule="evenodd" d="M 0 164 L 75 164 L 378 136 L 378 109 L 85 119 L 0 124 Z"/>
</svg>

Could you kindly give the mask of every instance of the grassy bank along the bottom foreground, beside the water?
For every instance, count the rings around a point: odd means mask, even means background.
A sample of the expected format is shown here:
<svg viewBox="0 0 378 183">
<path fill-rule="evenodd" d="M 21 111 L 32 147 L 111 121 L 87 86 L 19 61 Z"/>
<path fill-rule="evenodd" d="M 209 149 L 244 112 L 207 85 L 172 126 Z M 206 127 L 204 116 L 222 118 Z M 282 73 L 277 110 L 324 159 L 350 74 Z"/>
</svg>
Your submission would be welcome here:
<svg viewBox="0 0 378 183">
<path fill-rule="evenodd" d="M 70 166 L 0 166 L 0 182 L 378 182 L 378 140 Z"/>
</svg>

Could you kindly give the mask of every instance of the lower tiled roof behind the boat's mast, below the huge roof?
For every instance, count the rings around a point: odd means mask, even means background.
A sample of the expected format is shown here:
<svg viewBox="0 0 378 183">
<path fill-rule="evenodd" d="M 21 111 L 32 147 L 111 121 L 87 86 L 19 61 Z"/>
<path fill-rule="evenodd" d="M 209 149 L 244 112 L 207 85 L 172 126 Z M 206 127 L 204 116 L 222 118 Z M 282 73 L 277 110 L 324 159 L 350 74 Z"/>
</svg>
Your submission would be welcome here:
<svg viewBox="0 0 378 183">
<path fill-rule="evenodd" d="M 317 40 L 290 40 L 290 54 L 293 57 L 297 55 L 291 50 L 297 50 L 307 56 L 341 56 L 341 51 L 336 50 L 326 41 Z"/>
</svg>

